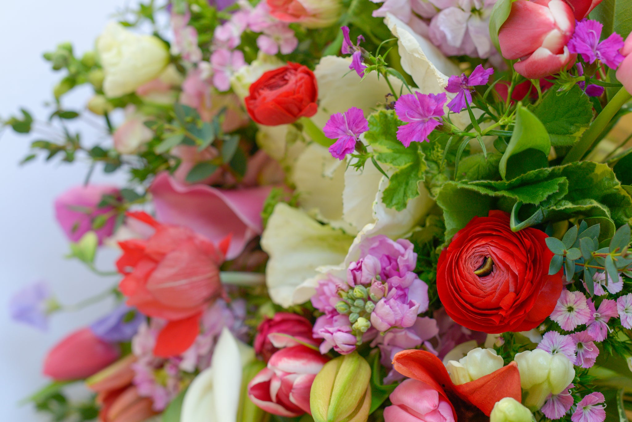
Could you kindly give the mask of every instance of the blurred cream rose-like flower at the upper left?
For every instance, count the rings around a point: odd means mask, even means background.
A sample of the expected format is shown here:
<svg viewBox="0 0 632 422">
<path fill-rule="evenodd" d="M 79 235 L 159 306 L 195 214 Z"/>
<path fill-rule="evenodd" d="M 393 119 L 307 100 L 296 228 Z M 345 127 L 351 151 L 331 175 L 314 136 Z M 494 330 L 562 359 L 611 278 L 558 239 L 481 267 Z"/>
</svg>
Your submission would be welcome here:
<svg viewBox="0 0 632 422">
<path fill-rule="evenodd" d="M 169 51 L 161 40 L 138 35 L 116 22 L 107 24 L 97 39 L 97 54 L 105 79 L 107 97 L 120 97 L 157 78 L 169 63 Z"/>
</svg>

